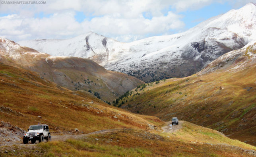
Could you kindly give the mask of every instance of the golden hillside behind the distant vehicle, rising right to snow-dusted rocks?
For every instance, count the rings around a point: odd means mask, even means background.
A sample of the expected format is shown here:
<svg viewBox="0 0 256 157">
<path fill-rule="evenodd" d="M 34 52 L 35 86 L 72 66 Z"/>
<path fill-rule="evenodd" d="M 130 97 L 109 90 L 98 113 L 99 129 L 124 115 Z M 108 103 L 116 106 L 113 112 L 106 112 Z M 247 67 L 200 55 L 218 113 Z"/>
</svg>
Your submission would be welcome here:
<svg viewBox="0 0 256 157">
<path fill-rule="evenodd" d="M 255 47 L 229 52 L 192 76 L 140 86 L 116 106 L 162 120 L 177 116 L 256 145 Z"/>
</svg>

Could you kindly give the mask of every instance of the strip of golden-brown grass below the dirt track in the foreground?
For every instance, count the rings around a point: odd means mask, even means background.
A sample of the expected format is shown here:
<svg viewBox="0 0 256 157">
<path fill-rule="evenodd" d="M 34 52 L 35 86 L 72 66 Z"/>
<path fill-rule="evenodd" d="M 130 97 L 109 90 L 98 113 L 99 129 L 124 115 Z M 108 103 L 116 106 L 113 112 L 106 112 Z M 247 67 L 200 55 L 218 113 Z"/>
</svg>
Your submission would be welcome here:
<svg viewBox="0 0 256 157">
<path fill-rule="evenodd" d="M 5 147 L 4 149 L 9 151 L 11 148 Z M 43 142 L 35 146 L 17 147 L 14 145 L 12 150 L 16 151 L 9 151 L 3 155 L 239 157 L 255 155 L 253 152 L 256 148 L 237 140 L 231 140 L 217 131 L 184 122 L 182 129 L 175 133 L 122 128 L 105 134 L 91 134 L 80 139 Z"/>
</svg>

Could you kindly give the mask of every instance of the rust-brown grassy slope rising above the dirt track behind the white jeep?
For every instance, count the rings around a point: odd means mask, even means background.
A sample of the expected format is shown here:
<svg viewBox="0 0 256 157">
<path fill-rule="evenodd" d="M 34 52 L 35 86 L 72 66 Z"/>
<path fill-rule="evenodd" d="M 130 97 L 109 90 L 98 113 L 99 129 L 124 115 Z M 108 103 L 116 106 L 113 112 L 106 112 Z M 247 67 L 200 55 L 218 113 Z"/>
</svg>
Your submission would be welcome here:
<svg viewBox="0 0 256 157">
<path fill-rule="evenodd" d="M 161 125 L 158 118 L 135 116 L 104 103 L 89 92 L 73 92 L 42 79 L 34 72 L 4 64 L 0 64 L 0 93 L 0 119 L 24 130 L 39 121 L 48 124 L 51 132 L 59 133 L 75 128 L 88 133 L 119 127 L 146 129 L 148 124 Z"/>
</svg>

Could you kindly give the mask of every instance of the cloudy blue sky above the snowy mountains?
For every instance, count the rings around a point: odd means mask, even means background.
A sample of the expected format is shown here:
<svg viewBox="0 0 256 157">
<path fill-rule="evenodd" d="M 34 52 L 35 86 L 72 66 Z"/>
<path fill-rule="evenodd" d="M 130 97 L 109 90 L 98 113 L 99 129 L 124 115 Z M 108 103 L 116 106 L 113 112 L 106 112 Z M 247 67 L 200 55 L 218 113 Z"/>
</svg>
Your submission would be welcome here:
<svg viewBox="0 0 256 157">
<path fill-rule="evenodd" d="M 0 34 L 14 41 L 68 39 L 93 31 L 130 42 L 171 35 L 256 0 L 43 0 L 47 4 L 3 4 Z"/>
</svg>

